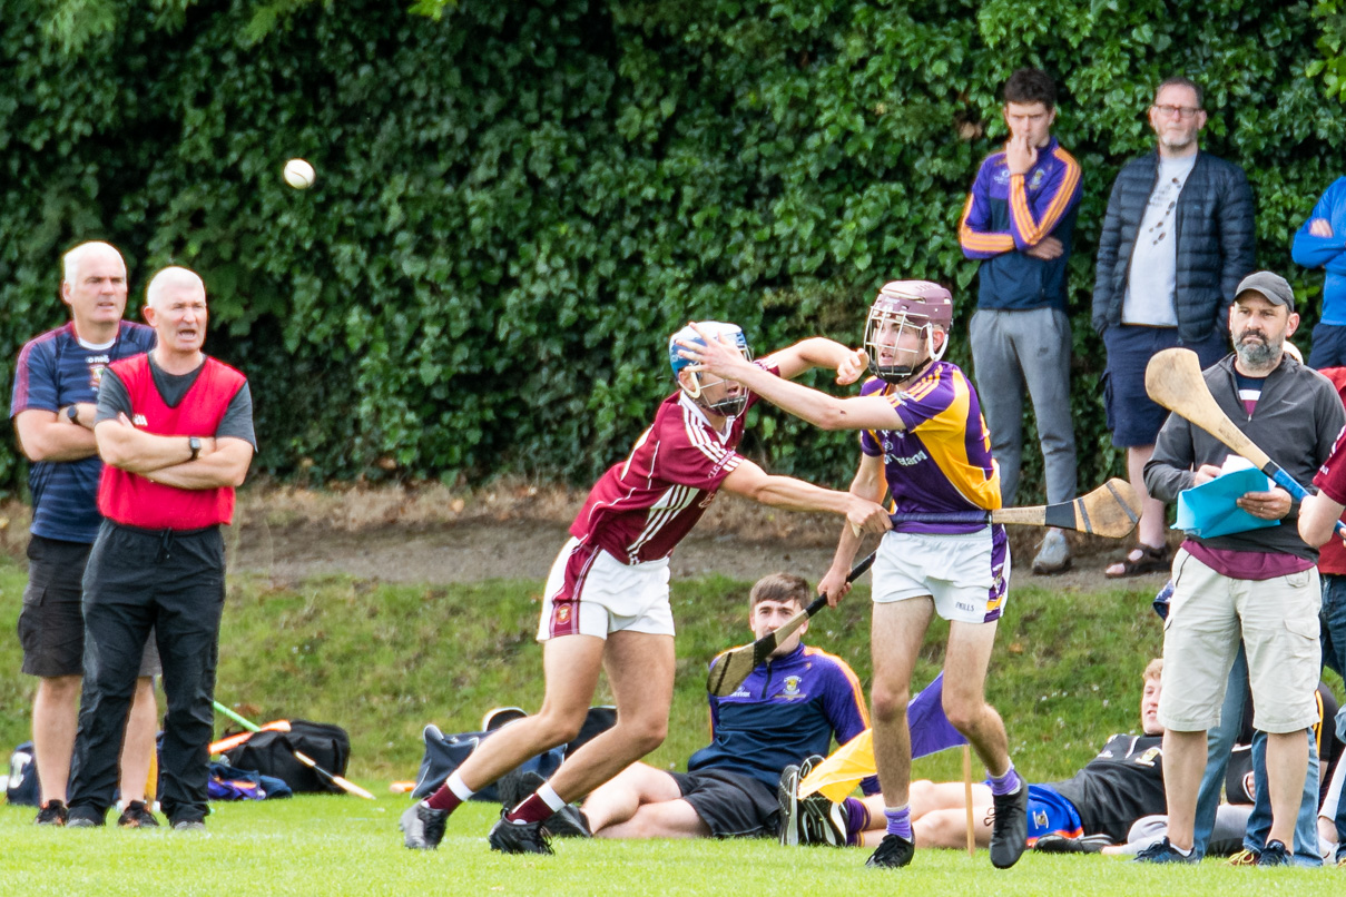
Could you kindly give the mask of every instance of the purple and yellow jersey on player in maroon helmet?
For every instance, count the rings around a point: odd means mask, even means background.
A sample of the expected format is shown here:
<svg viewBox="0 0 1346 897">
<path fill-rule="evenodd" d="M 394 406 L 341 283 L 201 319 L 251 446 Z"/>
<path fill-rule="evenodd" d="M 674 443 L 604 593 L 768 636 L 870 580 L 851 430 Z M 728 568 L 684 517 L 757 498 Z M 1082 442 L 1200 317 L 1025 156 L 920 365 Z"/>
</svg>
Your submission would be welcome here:
<svg viewBox="0 0 1346 897">
<path fill-rule="evenodd" d="M 902 430 L 863 430 L 860 451 L 883 457 L 895 514 L 993 511 L 1000 507 L 1000 471 L 972 381 L 950 362 L 935 362 L 906 390 L 872 378 L 861 395 L 883 395 Z M 975 533 L 973 523 L 898 523 L 898 533 Z"/>
</svg>

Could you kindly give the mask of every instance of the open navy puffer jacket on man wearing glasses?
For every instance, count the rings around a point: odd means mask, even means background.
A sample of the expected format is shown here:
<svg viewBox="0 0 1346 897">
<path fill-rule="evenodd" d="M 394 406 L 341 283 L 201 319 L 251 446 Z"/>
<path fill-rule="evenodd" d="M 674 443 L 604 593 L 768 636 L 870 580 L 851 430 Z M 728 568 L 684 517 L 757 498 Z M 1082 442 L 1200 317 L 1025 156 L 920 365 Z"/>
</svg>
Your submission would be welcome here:
<svg viewBox="0 0 1346 897">
<path fill-rule="evenodd" d="M 1100 334 L 1121 323 L 1131 253 L 1158 179 L 1155 151 L 1123 165 L 1112 184 L 1094 272 L 1093 327 Z M 1175 219 L 1178 338 L 1199 342 L 1217 327 L 1228 328 L 1238 281 L 1257 262 L 1253 194 L 1244 169 L 1210 153 L 1197 153 L 1178 195 Z"/>
</svg>

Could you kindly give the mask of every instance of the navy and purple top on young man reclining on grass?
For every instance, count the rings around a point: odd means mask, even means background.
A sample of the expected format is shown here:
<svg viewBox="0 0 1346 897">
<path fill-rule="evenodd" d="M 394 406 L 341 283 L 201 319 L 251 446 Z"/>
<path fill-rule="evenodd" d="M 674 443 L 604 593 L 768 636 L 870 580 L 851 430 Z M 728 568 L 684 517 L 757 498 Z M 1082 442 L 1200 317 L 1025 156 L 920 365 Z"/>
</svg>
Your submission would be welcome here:
<svg viewBox="0 0 1346 897">
<path fill-rule="evenodd" d="M 727 769 L 775 788 L 787 765 L 826 756 L 833 734 L 845 744 L 868 726 L 855 671 L 841 658 L 801 644 L 759 666 L 734 694 L 711 697 L 712 741 L 692 754 L 686 771 Z M 878 783 L 867 779 L 864 789 L 872 793 Z"/>
</svg>

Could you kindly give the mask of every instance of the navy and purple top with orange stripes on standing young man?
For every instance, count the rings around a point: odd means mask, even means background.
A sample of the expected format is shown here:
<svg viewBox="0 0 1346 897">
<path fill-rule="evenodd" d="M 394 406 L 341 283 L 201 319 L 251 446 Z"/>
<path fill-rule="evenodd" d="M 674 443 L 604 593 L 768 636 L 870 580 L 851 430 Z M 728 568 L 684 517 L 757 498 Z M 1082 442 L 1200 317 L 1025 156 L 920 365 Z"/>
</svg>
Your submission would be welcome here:
<svg viewBox="0 0 1346 897">
<path fill-rule="evenodd" d="M 981 163 L 958 222 L 958 245 L 980 258 L 977 308 L 1066 308 L 1066 262 L 1079 207 L 1079 163 L 1053 137 L 1023 176 L 1011 176 L 1004 152 Z M 1065 251 L 1051 261 L 1027 253 L 1047 237 Z"/>
</svg>

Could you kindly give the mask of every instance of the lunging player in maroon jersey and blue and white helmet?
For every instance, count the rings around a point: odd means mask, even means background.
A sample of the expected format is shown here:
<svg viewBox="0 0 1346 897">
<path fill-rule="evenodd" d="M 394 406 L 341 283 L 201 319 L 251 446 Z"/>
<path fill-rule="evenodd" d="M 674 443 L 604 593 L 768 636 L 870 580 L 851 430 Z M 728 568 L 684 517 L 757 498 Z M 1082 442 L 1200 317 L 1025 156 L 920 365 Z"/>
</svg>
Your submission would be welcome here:
<svg viewBox="0 0 1346 897">
<path fill-rule="evenodd" d="M 751 358 L 739 327 L 708 323 L 703 329 Z M 756 397 L 742 383 L 689 370 L 680 347 L 697 339 L 695 331 L 682 328 L 669 340 L 678 390 L 660 405 L 630 456 L 590 491 L 571 524 L 572 538 L 552 566 L 537 635 L 546 680 L 542 709 L 494 733 L 439 791 L 402 814 L 408 847 L 436 847 L 448 815 L 463 800 L 529 757 L 575 738 L 599 671 L 606 670 L 616 725 L 567 757 L 536 792 L 506 807 L 490 843 L 503 853 L 552 853 L 549 835 L 588 834 L 569 802 L 664 741 L 674 670 L 669 555 L 717 490 L 778 508 L 830 511 L 845 516 L 857 533 L 883 533 L 891 526 L 871 499 L 771 476 L 739 455 L 744 414 Z M 771 379 L 828 367 L 839 383 L 853 383 L 865 356 L 814 338 L 751 364 Z"/>
</svg>

